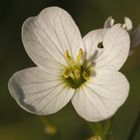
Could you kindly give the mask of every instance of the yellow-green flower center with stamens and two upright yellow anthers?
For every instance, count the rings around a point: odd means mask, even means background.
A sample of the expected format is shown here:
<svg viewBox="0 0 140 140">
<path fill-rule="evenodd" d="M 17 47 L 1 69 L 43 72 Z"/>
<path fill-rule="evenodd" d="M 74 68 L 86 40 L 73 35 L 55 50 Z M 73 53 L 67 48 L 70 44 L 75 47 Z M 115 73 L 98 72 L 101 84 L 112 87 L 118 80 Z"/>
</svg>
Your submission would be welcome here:
<svg viewBox="0 0 140 140">
<path fill-rule="evenodd" d="M 90 78 L 92 65 L 89 61 L 84 60 L 82 49 L 79 50 L 76 61 L 68 51 L 65 52 L 65 58 L 69 65 L 64 69 L 63 78 L 68 86 L 76 89 Z"/>
</svg>

